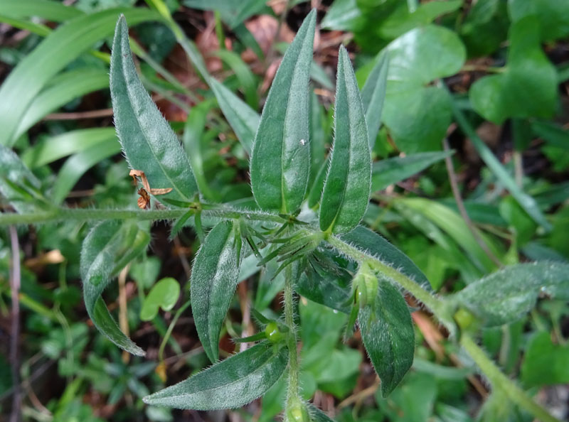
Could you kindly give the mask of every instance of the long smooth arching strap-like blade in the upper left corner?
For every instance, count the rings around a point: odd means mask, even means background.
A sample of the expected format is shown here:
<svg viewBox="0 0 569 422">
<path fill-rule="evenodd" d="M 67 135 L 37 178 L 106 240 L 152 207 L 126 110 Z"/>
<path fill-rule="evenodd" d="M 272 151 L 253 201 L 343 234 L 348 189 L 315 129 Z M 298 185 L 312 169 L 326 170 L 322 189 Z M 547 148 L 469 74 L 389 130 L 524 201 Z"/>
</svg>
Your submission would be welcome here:
<svg viewBox="0 0 569 422">
<path fill-rule="evenodd" d="M 18 63 L 0 87 L 0 144 L 14 144 L 16 129 L 33 98 L 81 53 L 110 36 L 119 13 L 124 13 L 133 24 L 161 20 L 148 9 L 107 9 L 73 18 L 50 33 Z"/>
</svg>

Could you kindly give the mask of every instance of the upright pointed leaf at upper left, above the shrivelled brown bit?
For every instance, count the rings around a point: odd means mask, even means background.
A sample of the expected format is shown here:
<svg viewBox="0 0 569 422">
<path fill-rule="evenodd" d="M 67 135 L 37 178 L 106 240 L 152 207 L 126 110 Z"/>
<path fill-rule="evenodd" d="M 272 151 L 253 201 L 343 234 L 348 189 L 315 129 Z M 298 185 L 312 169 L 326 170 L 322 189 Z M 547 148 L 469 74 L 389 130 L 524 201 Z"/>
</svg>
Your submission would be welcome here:
<svg viewBox="0 0 569 422">
<path fill-rule="evenodd" d="M 129 166 L 144 171 L 151 188 L 172 188 L 167 198 L 191 200 L 198 187 L 190 162 L 139 80 L 124 16 L 112 43 L 110 85 L 115 126 Z"/>
</svg>

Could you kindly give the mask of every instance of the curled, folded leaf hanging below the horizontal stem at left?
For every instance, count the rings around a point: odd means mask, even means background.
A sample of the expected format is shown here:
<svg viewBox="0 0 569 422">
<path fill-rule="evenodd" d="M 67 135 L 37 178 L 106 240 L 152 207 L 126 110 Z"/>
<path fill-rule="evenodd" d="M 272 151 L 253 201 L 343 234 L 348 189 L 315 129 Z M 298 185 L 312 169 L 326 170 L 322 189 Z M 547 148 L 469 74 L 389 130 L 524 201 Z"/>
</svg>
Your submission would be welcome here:
<svg viewBox="0 0 569 422">
<path fill-rule="evenodd" d="M 93 227 L 81 249 L 83 298 L 89 317 L 97 330 L 115 345 L 138 356 L 144 356 L 144 350 L 119 329 L 101 294 L 112 276 L 142 253 L 149 242 L 148 232 L 134 222 L 106 221 Z"/>
</svg>

